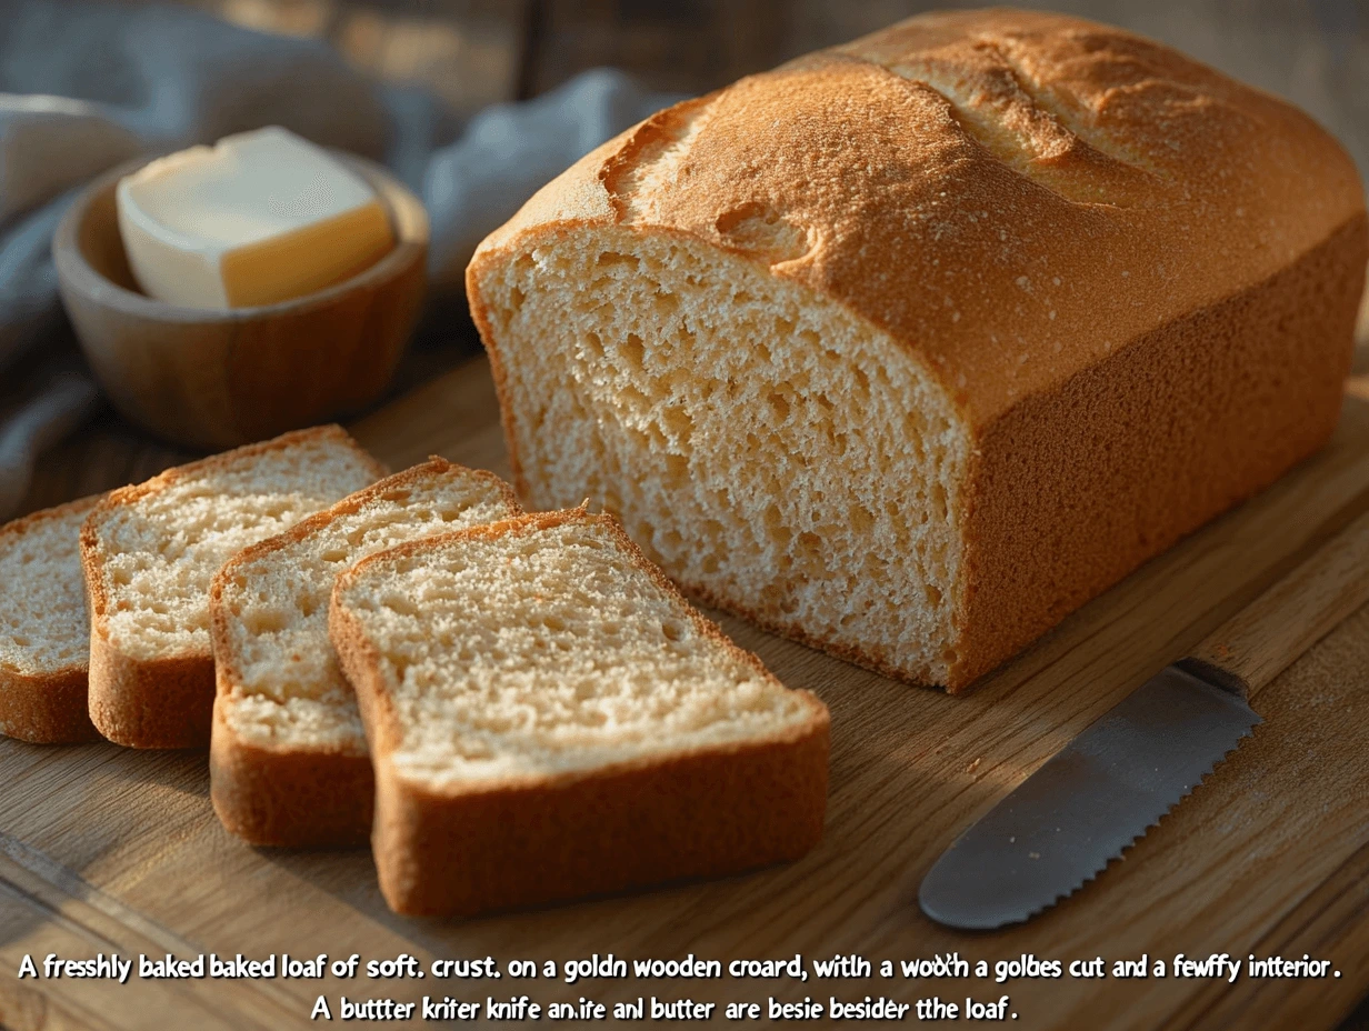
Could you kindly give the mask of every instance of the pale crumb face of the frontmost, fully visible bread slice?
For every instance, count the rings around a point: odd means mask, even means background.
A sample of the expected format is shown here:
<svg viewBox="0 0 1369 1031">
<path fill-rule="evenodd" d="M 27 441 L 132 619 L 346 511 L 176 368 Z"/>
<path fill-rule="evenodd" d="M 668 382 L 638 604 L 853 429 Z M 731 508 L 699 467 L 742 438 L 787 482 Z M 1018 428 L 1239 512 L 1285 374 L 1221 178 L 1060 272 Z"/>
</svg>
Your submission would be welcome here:
<svg viewBox="0 0 1369 1031">
<path fill-rule="evenodd" d="M 334 605 L 374 657 L 394 774 L 435 793 L 537 783 L 813 726 L 810 696 L 632 550 L 608 518 L 530 516 L 344 576 Z"/>
</svg>

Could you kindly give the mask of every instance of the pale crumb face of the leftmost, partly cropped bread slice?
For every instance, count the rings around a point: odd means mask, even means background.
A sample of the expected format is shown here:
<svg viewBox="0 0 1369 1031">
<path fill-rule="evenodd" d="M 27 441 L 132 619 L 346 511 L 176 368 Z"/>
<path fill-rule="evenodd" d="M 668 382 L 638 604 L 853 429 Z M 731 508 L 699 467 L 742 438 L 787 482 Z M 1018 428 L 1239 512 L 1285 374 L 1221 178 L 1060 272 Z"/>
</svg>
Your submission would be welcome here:
<svg viewBox="0 0 1369 1031">
<path fill-rule="evenodd" d="M 0 529 L 0 671 L 49 676 L 85 670 L 90 620 L 78 542 L 97 501 L 74 501 Z"/>
</svg>

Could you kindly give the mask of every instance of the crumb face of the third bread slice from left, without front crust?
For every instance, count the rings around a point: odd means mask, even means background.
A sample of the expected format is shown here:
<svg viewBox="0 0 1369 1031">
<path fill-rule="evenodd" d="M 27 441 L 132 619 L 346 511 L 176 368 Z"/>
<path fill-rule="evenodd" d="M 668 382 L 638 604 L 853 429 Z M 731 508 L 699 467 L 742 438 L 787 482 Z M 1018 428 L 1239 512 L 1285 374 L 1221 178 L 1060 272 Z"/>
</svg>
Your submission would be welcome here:
<svg viewBox="0 0 1369 1031">
<path fill-rule="evenodd" d="M 220 711 L 277 752 L 367 753 L 356 694 L 329 644 L 337 575 L 386 548 L 519 515 L 489 472 L 434 459 L 237 556 L 215 583 Z"/>
</svg>

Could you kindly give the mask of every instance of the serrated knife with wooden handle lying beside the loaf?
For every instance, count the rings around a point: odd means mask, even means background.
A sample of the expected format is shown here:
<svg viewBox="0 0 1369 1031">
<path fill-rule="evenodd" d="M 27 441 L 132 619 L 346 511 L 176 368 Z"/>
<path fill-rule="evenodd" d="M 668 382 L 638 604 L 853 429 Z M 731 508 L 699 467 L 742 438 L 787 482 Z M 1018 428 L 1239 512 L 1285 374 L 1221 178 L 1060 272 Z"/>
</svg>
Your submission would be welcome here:
<svg viewBox="0 0 1369 1031">
<path fill-rule="evenodd" d="M 1369 515 L 1165 667 L 969 827 L 923 879 L 932 920 L 1020 923 L 1083 887 L 1262 720 L 1258 691 L 1369 601 Z"/>
</svg>

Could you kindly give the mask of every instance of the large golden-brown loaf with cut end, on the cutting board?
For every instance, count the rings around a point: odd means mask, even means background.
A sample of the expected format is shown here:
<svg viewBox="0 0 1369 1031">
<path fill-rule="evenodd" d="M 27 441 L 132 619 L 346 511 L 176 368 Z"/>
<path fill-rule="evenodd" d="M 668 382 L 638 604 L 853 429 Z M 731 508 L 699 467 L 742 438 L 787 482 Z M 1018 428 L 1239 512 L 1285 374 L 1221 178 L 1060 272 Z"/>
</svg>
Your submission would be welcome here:
<svg viewBox="0 0 1369 1031">
<path fill-rule="evenodd" d="M 467 286 L 524 504 L 954 690 L 1321 446 L 1366 257 L 1299 111 L 994 10 L 654 115 Z"/>
</svg>

